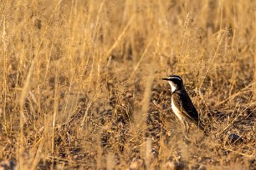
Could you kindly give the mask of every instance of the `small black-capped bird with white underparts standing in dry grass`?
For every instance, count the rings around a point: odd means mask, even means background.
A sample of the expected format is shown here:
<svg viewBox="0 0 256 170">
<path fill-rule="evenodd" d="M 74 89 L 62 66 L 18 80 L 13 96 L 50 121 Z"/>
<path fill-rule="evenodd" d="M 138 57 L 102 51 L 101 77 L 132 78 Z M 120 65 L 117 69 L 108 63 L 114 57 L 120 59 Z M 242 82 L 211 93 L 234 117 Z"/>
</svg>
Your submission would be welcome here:
<svg viewBox="0 0 256 170">
<path fill-rule="evenodd" d="M 197 125 L 199 129 L 204 130 L 196 107 L 194 107 L 191 98 L 187 94 L 184 87 L 182 77 L 177 75 L 171 75 L 162 80 L 166 80 L 171 85 L 172 89 L 172 111 L 182 122 L 182 125 L 188 131 L 188 122 L 192 122 Z"/>
</svg>

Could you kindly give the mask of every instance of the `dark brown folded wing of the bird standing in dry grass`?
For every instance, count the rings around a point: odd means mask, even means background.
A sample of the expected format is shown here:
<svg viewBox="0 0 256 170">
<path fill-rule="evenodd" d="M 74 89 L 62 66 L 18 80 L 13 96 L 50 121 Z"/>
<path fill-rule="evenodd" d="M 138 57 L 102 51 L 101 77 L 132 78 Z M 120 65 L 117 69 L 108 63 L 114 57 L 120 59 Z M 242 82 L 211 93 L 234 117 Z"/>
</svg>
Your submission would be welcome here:
<svg viewBox="0 0 256 170">
<path fill-rule="evenodd" d="M 182 115 L 194 122 L 203 129 L 202 122 L 199 119 L 197 109 L 194 107 L 192 100 L 188 96 L 187 92 L 174 92 L 172 93 L 172 98 L 176 107 L 182 108 Z"/>
</svg>

